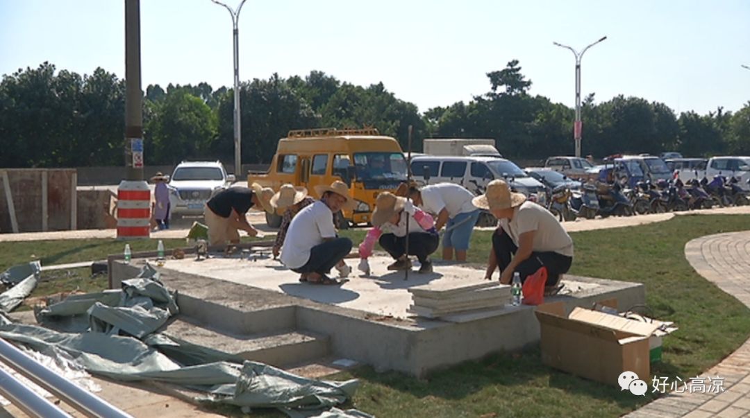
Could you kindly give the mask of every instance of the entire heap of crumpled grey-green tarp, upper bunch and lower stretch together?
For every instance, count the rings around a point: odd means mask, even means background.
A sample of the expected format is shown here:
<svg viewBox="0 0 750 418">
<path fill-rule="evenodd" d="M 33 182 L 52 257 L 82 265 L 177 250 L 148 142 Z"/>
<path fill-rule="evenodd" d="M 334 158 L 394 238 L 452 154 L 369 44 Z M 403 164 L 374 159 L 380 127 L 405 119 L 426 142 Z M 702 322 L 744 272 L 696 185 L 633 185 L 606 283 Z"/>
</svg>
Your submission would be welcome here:
<svg viewBox="0 0 750 418">
<path fill-rule="evenodd" d="M 64 333 L 13 324 L 0 315 L 0 337 L 75 360 L 86 371 L 119 381 L 163 381 L 207 393 L 211 402 L 278 408 L 293 417 L 370 418 L 330 409 L 350 399 L 359 382 L 317 381 L 263 363 L 154 333 L 178 313 L 175 297 L 151 266 L 122 289 L 81 294 L 47 306 L 37 320 L 84 318 L 88 332 Z M 120 334 L 125 335 L 120 335 Z M 136 338 L 133 338 L 136 337 Z M 142 341 L 140 340 L 142 339 Z"/>
</svg>

